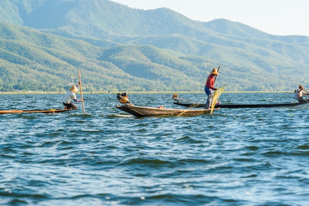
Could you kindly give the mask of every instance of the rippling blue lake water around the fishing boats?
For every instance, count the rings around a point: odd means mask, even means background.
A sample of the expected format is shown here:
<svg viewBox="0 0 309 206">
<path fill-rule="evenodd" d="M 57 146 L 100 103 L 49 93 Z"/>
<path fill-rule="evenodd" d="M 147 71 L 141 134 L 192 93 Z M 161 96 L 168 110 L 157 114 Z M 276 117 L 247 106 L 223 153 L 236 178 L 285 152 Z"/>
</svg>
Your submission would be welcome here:
<svg viewBox="0 0 309 206">
<path fill-rule="evenodd" d="M 129 94 L 139 106 L 170 94 Z M 64 94 L 0 95 L 0 110 L 63 108 Z M 204 103 L 204 93 L 179 94 Z M 223 93 L 222 103 L 290 103 L 291 93 Z M 77 94 L 77 99 L 80 94 Z M 136 118 L 116 94 L 86 113 L 0 115 L 2 206 L 308 206 L 309 104 Z"/>
</svg>

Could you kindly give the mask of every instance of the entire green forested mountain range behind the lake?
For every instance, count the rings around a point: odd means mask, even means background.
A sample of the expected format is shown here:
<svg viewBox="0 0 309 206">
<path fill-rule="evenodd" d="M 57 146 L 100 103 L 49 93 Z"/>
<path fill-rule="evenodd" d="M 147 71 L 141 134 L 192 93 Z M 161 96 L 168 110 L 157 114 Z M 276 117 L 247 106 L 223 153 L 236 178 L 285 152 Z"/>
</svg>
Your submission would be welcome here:
<svg viewBox="0 0 309 206">
<path fill-rule="evenodd" d="M 1 0 L 0 91 L 203 91 L 208 72 L 227 91 L 309 84 L 309 37 L 237 22 L 193 21 L 167 8 L 109 0 Z"/>
</svg>

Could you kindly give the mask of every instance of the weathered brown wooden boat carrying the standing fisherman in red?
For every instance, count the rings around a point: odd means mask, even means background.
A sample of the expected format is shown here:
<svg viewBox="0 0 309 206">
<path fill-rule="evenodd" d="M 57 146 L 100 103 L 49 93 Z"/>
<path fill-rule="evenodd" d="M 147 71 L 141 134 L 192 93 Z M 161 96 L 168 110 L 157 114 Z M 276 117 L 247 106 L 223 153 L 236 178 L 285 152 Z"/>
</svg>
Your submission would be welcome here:
<svg viewBox="0 0 309 206">
<path fill-rule="evenodd" d="M 134 106 L 131 103 L 124 104 L 121 106 L 116 105 L 116 108 L 125 111 L 127 113 L 133 114 L 136 117 L 194 116 L 194 115 L 211 113 L 211 109 L 165 109 L 165 108 Z"/>
</svg>

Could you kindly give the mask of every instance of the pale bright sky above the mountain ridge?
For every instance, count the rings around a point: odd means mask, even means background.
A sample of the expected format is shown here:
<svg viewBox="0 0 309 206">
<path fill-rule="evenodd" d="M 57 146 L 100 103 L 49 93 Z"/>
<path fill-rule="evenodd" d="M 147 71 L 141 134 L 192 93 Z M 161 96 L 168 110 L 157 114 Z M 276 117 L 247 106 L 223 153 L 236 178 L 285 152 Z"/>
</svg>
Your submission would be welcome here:
<svg viewBox="0 0 309 206">
<path fill-rule="evenodd" d="M 228 19 L 274 35 L 309 36 L 309 0 L 112 0 L 131 8 L 166 7 L 209 22 Z"/>
</svg>

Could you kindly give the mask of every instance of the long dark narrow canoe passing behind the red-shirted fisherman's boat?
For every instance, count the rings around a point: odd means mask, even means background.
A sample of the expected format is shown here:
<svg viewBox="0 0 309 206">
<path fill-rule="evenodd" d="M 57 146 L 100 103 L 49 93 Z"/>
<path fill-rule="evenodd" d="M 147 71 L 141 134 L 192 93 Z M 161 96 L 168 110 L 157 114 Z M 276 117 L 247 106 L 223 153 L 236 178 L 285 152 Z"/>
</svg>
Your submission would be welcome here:
<svg viewBox="0 0 309 206">
<path fill-rule="evenodd" d="M 215 108 L 259 108 L 259 107 L 280 107 L 280 106 L 298 106 L 308 102 L 301 103 L 269 103 L 269 104 L 216 104 Z M 186 106 L 186 107 L 205 107 L 202 103 L 180 103 L 174 102 L 174 104 Z"/>
</svg>

